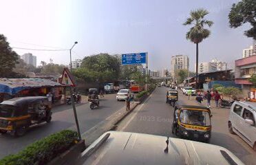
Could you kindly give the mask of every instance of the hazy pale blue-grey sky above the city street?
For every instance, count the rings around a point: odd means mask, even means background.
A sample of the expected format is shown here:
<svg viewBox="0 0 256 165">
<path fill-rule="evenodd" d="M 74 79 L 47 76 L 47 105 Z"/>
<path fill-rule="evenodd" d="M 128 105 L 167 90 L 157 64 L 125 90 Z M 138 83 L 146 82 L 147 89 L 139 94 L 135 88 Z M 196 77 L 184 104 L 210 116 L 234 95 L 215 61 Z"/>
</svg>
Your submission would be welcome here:
<svg viewBox="0 0 256 165">
<path fill-rule="evenodd" d="M 194 71 L 195 44 L 186 40 L 182 25 L 189 12 L 209 11 L 211 36 L 199 45 L 199 62 L 217 58 L 233 67 L 253 40 L 244 36 L 250 25 L 228 27 L 228 12 L 238 0 L 0 0 L 0 34 L 11 47 L 68 50 L 75 41 L 72 60 L 92 54 L 148 52 L 149 69 L 171 67 L 171 56 L 189 56 Z M 34 51 L 41 61 L 68 65 L 69 51 Z"/>
</svg>

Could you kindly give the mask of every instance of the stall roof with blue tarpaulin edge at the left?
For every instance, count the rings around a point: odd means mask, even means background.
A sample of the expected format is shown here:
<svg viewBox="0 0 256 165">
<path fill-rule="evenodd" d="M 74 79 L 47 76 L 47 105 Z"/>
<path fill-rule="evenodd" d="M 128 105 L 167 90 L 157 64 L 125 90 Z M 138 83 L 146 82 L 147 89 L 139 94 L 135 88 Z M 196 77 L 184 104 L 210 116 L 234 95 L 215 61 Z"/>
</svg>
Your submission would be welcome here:
<svg viewBox="0 0 256 165">
<path fill-rule="evenodd" d="M 0 78 L 0 93 L 11 95 L 24 89 L 61 86 L 60 83 L 41 78 Z"/>
</svg>

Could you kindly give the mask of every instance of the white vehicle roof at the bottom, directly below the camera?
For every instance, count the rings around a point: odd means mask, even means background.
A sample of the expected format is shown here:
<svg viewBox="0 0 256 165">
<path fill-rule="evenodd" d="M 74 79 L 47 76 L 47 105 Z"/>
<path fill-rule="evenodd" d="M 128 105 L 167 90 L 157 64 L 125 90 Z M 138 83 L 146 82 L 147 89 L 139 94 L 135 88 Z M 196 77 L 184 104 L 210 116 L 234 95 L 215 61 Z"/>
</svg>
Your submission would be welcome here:
<svg viewBox="0 0 256 165">
<path fill-rule="evenodd" d="M 83 151 L 79 164 L 243 165 L 243 162 L 228 149 L 213 144 L 160 135 L 109 131 Z"/>
</svg>

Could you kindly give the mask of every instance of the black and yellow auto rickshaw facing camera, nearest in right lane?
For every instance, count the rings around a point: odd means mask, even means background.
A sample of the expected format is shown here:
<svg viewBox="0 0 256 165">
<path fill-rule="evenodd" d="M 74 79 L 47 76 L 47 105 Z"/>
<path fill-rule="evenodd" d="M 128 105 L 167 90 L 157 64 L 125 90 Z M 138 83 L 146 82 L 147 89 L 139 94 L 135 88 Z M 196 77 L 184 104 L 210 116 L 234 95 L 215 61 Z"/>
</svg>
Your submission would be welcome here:
<svg viewBox="0 0 256 165">
<path fill-rule="evenodd" d="M 207 107 L 175 104 L 172 132 L 180 138 L 209 142 L 211 111 Z"/>
</svg>

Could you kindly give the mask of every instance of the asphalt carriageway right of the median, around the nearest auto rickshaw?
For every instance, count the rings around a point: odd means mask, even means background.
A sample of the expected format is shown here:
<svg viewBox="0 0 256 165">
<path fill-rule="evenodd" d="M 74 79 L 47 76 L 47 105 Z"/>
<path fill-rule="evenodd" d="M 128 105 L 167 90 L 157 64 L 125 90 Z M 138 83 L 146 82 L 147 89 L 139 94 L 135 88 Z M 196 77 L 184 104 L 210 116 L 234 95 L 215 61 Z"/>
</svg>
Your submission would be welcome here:
<svg viewBox="0 0 256 165">
<path fill-rule="evenodd" d="M 157 87 L 151 96 L 140 104 L 125 120 L 118 124 L 117 131 L 128 131 L 136 133 L 148 133 L 175 137 L 171 133 L 173 122 L 173 107 L 165 103 L 166 87 Z M 179 99 L 188 101 L 187 97 L 179 94 Z M 204 102 L 203 104 L 205 104 Z M 256 152 L 237 135 L 228 133 L 227 120 L 229 109 L 211 109 L 212 137 L 211 144 L 223 146 L 232 151 L 244 164 L 253 165 L 256 162 Z"/>
</svg>

